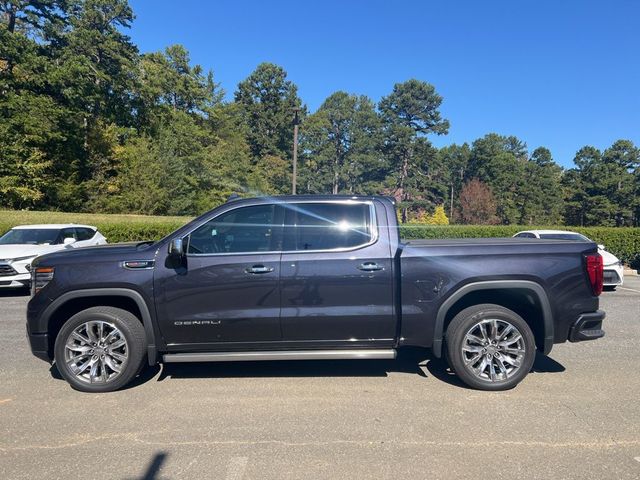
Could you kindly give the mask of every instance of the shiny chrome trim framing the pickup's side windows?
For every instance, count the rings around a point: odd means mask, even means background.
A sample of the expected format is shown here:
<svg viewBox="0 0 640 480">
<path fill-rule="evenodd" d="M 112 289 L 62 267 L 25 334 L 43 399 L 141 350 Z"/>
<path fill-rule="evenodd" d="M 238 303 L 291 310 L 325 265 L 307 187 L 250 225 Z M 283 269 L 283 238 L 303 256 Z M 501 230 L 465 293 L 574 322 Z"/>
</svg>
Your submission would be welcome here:
<svg viewBox="0 0 640 480">
<path fill-rule="evenodd" d="M 193 229 L 189 230 L 188 233 L 184 234 L 182 236 L 182 239 L 184 240 L 185 238 L 187 238 L 189 235 L 191 235 L 191 233 L 193 233 L 195 230 L 197 230 L 198 228 L 200 228 L 201 226 L 209 223 L 212 220 L 215 220 L 216 218 L 220 217 L 221 215 L 225 215 L 229 212 L 232 212 L 234 210 L 239 210 L 240 208 L 248 208 L 248 207 L 257 207 L 257 206 L 263 206 L 263 205 L 281 205 L 283 206 L 283 208 L 287 208 L 287 205 L 292 205 L 292 204 L 300 204 L 300 203 L 329 203 L 329 204 L 336 204 L 336 205 L 368 205 L 369 207 L 369 218 L 370 218 L 370 225 L 369 225 L 369 233 L 371 235 L 371 240 L 369 240 L 366 243 L 363 243 L 361 245 L 356 245 L 354 247 L 340 247 L 340 248 L 332 248 L 332 249 L 326 249 L 326 250 L 269 250 L 269 251 L 265 251 L 265 252 L 261 252 L 261 251 L 257 251 L 257 252 L 223 252 L 223 253 L 186 253 L 185 255 L 187 257 L 220 257 L 220 256 L 229 256 L 229 255 L 233 255 L 233 256 L 242 256 L 242 255 L 274 255 L 274 254 L 293 254 L 293 253 L 331 253 L 331 252 L 335 252 L 335 253 L 341 253 L 341 252 L 353 252 L 355 250 L 360 250 L 362 248 L 366 248 L 366 247 L 370 247 L 371 245 L 377 243 L 380 233 L 379 233 L 379 229 L 378 229 L 378 221 L 376 218 L 376 209 L 373 205 L 373 200 L 356 200 L 356 199 L 346 199 L 346 200 L 329 200 L 329 199 L 324 199 L 324 200 L 296 200 L 293 202 L 274 202 L 274 203 L 256 203 L 253 205 L 240 205 L 237 206 L 236 208 L 230 208 L 228 210 L 224 210 L 223 212 L 220 212 L 218 215 L 216 215 L 215 217 L 211 217 L 208 218 L 207 220 L 203 221 L 202 223 L 198 224 L 196 227 L 194 227 Z M 285 212 L 286 215 L 286 212 Z M 284 219 L 283 219 L 284 221 Z M 284 227 L 284 225 L 282 225 L 282 227 Z M 189 246 L 187 244 L 187 250 L 189 249 Z"/>
</svg>

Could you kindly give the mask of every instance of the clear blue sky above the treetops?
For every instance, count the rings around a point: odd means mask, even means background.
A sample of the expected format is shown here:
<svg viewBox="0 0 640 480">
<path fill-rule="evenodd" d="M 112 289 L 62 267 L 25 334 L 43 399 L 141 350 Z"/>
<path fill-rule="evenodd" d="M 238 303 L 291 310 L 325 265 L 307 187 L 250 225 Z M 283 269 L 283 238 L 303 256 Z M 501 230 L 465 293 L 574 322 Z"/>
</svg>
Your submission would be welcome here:
<svg viewBox="0 0 640 480">
<path fill-rule="evenodd" d="M 544 145 L 640 145 L 640 1 L 131 0 L 142 52 L 180 43 L 231 97 L 260 62 L 311 111 L 337 90 L 375 101 L 417 78 L 444 97 L 438 146 L 489 133 Z"/>
</svg>

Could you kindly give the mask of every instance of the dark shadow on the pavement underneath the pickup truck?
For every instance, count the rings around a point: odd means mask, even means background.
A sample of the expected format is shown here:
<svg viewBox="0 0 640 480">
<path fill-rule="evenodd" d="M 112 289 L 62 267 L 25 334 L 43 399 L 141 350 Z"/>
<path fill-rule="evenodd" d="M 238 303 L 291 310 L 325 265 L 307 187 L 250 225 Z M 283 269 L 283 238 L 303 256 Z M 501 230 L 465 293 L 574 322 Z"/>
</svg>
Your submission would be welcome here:
<svg viewBox="0 0 640 480">
<path fill-rule="evenodd" d="M 560 373 L 564 372 L 565 368 L 552 358 L 537 353 L 531 371 Z M 185 378 L 386 377 L 392 372 L 416 374 L 424 378 L 431 375 L 450 385 L 468 388 L 451 371 L 444 359 L 436 358 L 429 350 L 421 348 L 403 349 L 398 352 L 395 360 L 164 364 L 157 381 Z"/>
</svg>

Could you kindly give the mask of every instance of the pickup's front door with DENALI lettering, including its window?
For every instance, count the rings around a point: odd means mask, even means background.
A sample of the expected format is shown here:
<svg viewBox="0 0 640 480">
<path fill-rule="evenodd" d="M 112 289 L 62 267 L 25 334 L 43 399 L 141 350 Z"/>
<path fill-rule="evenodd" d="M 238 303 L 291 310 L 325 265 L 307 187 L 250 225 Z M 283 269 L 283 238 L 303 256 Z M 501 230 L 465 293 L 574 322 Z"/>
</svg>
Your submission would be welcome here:
<svg viewBox="0 0 640 480">
<path fill-rule="evenodd" d="M 156 266 L 157 314 L 170 349 L 281 340 L 280 211 L 253 205 L 221 213 L 184 238 L 182 265 Z"/>
</svg>

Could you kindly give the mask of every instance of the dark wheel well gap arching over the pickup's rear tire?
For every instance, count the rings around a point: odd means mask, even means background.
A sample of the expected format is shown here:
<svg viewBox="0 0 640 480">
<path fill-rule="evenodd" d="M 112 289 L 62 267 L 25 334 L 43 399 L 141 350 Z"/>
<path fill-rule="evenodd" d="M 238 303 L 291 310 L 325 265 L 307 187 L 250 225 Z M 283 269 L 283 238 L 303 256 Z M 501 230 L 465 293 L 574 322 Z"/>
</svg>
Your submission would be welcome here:
<svg viewBox="0 0 640 480">
<path fill-rule="evenodd" d="M 482 303 L 493 303 L 513 310 L 529 325 L 536 339 L 538 350 L 544 348 L 544 314 L 538 296 L 526 288 L 476 290 L 467 293 L 454 303 L 445 316 L 443 333 L 446 333 L 451 320 L 467 307 Z"/>
</svg>

